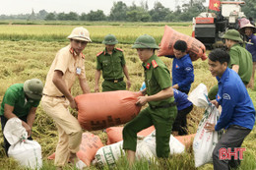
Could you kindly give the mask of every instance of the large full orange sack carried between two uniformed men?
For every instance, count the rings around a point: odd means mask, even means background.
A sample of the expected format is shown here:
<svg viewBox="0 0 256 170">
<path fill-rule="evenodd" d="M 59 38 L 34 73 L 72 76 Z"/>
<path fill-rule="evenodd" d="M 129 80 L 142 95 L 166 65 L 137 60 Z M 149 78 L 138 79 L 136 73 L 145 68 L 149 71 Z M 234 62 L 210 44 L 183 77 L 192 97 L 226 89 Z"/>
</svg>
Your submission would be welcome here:
<svg viewBox="0 0 256 170">
<path fill-rule="evenodd" d="M 141 110 L 135 105 L 141 92 L 117 90 L 82 94 L 75 97 L 82 128 L 96 131 L 125 124 Z"/>
</svg>

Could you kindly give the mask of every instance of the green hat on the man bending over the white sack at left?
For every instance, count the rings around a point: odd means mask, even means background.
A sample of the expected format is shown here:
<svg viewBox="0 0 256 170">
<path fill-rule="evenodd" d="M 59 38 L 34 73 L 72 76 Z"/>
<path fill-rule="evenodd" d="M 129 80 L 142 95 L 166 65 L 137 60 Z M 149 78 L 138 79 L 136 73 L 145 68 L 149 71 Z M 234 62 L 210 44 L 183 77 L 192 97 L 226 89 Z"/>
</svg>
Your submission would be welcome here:
<svg viewBox="0 0 256 170">
<path fill-rule="evenodd" d="M 28 80 L 24 83 L 24 91 L 32 99 L 41 99 L 42 89 L 43 84 L 38 79 Z"/>
</svg>

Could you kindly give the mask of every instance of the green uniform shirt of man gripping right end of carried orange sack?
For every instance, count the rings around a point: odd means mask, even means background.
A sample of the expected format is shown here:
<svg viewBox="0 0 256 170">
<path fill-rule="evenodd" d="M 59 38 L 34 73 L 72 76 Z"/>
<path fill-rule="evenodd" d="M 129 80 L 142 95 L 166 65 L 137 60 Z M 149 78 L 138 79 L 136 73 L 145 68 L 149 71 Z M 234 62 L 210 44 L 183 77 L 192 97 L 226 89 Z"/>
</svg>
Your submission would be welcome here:
<svg viewBox="0 0 256 170">
<path fill-rule="evenodd" d="M 143 67 L 145 68 L 145 83 L 148 95 L 157 94 L 160 90 L 171 86 L 169 71 L 159 57 L 153 55 L 146 63 L 143 63 Z M 149 104 L 161 106 L 173 101 L 174 98 L 169 97 L 159 101 L 150 101 Z"/>
</svg>

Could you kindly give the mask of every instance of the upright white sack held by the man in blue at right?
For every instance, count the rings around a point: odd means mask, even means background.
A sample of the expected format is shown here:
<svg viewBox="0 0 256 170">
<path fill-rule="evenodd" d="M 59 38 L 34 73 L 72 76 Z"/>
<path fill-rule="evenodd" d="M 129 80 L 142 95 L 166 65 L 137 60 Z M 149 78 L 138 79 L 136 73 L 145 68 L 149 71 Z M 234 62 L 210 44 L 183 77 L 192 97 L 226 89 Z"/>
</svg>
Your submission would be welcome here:
<svg viewBox="0 0 256 170">
<path fill-rule="evenodd" d="M 196 136 L 193 142 L 195 166 L 199 167 L 212 162 L 212 154 L 216 144 L 222 137 L 223 131 L 207 132 L 207 123 L 217 124 L 220 112 L 217 107 L 208 99 L 206 85 L 198 85 L 188 96 L 188 99 L 196 106 L 205 108 L 205 113 L 200 121 Z"/>
</svg>

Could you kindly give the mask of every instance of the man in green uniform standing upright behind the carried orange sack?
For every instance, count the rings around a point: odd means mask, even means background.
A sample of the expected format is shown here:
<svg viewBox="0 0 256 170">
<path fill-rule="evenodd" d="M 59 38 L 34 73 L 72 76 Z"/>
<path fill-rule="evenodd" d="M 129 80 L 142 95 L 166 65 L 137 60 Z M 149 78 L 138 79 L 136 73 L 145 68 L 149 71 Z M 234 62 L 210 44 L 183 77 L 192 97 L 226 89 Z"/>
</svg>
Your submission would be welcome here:
<svg viewBox="0 0 256 170">
<path fill-rule="evenodd" d="M 102 43 L 105 44 L 105 49 L 96 55 L 95 91 L 99 91 L 98 81 L 100 78 L 100 70 L 102 70 L 104 79 L 102 91 L 125 90 L 126 85 L 123 82 L 123 74 L 127 79 L 127 89 L 129 89 L 131 83 L 128 69 L 125 64 L 123 50 L 115 48 L 115 44 L 118 43 L 116 37 L 113 34 L 107 34 Z"/>
</svg>

